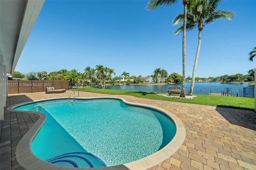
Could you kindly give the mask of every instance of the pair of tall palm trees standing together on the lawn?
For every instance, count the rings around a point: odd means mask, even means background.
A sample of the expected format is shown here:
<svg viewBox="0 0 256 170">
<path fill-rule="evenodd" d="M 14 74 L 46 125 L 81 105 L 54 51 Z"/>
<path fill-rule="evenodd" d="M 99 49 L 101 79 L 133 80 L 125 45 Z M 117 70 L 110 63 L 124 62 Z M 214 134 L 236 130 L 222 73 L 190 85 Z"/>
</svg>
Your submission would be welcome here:
<svg viewBox="0 0 256 170">
<path fill-rule="evenodd" d="M 192 95 L 197 61 L 199 56 L 199 50 L 201 45 L 201 32 L 203 27 L 207 24 L 211 24 L 214 20 L 220 20 L 226 18 L 230 20 L 234 17 L 234 13 L 227 10 L 217 10 L 218 3 L 221 0 L 182 0 L 184 6 L 184 12 L 178 14 L 172 24 L 177 25 L 183 23 L 182 26 L 176 29 L 174 35 L 177 35 L 180 32 L 183 32 L 182 36 L 182 92 L 180 97 L 185 97 L 185 82 L 186 82 L 186 30 L 193 30 L 198 28 L 198 47 L 196 51 L 196 57 L 194 62 L 194 69 L 192 74 L 192 83 L 190 90 L 187 95 Z M 148 9 L 155 9 L 157 6 L 165 5 L 169 6 L 176 3 L 177 0 L 150 0 Z"/>
</svg>

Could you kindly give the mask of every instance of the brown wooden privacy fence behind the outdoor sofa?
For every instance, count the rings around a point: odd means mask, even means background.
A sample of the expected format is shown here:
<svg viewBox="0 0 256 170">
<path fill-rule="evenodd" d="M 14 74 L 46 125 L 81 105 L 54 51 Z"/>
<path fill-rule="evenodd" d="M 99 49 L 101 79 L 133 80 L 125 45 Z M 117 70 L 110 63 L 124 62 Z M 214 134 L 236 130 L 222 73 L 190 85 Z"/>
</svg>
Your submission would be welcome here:
<svg viewBox="0 0 256 170">
<path fill-rule="evenodd" d="M 68 90 L 67 80 L 8 80 L 7 85 L 8 94 L 42 92 L 46 87 Z"/>
</svg>

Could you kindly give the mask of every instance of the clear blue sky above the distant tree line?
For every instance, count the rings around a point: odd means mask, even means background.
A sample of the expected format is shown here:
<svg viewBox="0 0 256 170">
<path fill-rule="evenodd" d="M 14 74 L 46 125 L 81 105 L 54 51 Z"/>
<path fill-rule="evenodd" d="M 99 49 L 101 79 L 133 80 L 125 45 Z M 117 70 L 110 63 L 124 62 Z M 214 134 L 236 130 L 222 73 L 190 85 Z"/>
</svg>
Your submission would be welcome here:
<svg viewBox="0 0 256 170">
<path fill-rule="evenodd" d="M 183 12 L 182 0 L 146 10 L 148 0 L 46 0 L 15 71 L 58 71 L 103 65 L 147 76 L 156 68 L 182 75 L 182 33 L 173 32 L 173 18 Z M 222 0 L 218 9 L 236 13 L 202 30 L 196 77 L 248 74 L 256 59 L 256 0 Z M 186 33 L 186 77 L 192 76 L 198 30 Z"/>
</svg>

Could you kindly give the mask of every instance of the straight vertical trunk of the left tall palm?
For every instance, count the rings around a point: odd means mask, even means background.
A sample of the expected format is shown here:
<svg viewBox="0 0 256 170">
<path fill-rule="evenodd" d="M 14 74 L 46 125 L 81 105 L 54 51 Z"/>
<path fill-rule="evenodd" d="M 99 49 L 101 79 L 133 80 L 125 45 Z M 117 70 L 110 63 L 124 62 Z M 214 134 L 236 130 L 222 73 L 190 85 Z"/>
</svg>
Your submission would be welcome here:
<svg viewBox="0 0 256 170">
<path fill-rule="evenodd" d="M 186 97 L 185 85 L 186 85 L 186 25 L 187 25 L 187 4 L 188 0 L 183 0 L 184 5 L 184 21 L 183 21 L 183 38 L 182 38 L 182 89 L 180 97 Z"/>
</svg>

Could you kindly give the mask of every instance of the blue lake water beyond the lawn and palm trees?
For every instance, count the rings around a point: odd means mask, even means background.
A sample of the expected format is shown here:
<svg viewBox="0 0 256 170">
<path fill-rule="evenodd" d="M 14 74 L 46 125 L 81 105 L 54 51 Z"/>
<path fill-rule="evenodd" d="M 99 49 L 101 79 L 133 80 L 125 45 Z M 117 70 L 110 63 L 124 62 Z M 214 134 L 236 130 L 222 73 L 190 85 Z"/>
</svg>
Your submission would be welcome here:
<svg viewBox="0 0 256 170">
<path fill-rule="evenodd" d="M 185 93 L 188 93 L 190 89 L 190 82 L 186 83 Z M 248 84 L 230 84 L 219 82 L 195 82 L 193 94 L 208 95 L 211 93 L 235 93 L 235 96 L 244 97 L 244 87 L 248 87 Z M 182 84 L 170 84 L 170 85 L 108 85 L 106 89 L 124 89 L 124 90 L 137 90 L 137 91 L 156 91 L 165 93 L 169 87 L 180 87 Z M 99 88 L 99 87 L 98 87 Z"/>
</svg>

